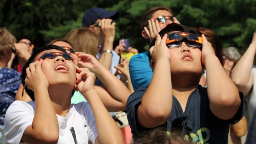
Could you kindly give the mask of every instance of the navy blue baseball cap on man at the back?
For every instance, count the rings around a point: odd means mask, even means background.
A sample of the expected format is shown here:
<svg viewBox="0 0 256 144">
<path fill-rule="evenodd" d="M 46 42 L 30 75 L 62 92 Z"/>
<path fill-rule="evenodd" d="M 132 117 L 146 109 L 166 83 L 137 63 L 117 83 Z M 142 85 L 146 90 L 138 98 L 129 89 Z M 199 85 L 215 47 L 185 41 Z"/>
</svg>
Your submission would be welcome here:
<svg viewBox="0 0 256 144">
<path fill-rule="evenodd" d="M 98 19 L 110 18 L 112 20 L 116 20 L 118 16 L 119 16 L 119 12 L 117 11 L 108 12 L 103 8 L 91 8 L 84 13 L 82 26 L 89 27 Z"/>
</svg>

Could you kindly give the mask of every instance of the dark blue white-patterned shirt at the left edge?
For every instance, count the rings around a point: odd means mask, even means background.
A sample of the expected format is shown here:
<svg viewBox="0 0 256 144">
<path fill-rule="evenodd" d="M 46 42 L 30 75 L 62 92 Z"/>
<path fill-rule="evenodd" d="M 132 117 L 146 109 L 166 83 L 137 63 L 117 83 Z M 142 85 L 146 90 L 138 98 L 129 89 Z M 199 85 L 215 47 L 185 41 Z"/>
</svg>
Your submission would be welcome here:
<svg viewBox="0 0 256 144">
<path fill-rule="evenodd" d="M 15 100 L 21 84 L 20 73 L 14 69 L 0 69 L 0 129 L 4 129 L 4 117 L 7 108 Z"/>
</svg>

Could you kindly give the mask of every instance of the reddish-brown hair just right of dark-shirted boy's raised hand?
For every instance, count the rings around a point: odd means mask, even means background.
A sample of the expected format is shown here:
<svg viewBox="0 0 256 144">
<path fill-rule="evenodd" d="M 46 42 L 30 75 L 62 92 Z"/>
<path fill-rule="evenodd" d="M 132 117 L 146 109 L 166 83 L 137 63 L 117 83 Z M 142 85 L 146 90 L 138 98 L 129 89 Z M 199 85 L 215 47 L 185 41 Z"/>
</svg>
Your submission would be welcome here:
<svg viewBox="0 0 256 144">
<path fill-rule="evenodd" d="M 218 36 L 208 28 L 194 28 L 194 29 L 199 35 L 204 34 L 208 42 L 212 44 L 212 47 L 215 51 L 217 58 L 220 60 L 221 65 L 223 65 L 223 58 L 222 58 L 223 48 Z"/>
</svg>

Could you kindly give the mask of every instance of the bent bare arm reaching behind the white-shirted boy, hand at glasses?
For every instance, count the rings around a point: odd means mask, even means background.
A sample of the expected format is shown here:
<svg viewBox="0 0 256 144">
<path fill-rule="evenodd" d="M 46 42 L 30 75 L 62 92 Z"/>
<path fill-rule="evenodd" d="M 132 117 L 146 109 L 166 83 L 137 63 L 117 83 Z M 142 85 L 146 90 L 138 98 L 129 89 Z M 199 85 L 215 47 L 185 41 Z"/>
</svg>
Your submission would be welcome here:
<svg viewBox="0 0 256 144">
<path fill-rule="evenodd" d="M 78 63 L 92 71 L 106 86 L 107 91 L 99 86 L 95 86 L 95 89 L 108 111 L 125 110 L 126 101 L 131 94 L 127 87 L 108 69 L 100 65 L 94 56 L 83 52 L 76 52 L 76 54 L 81 59 Z"/>
</svg>

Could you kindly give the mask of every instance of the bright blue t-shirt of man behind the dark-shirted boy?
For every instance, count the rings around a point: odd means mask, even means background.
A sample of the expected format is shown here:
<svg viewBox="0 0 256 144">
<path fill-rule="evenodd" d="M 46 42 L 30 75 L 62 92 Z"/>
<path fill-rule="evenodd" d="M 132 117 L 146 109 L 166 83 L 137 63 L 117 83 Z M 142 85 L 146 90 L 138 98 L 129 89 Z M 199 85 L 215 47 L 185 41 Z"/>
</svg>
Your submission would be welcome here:
<svg viewBox="0 0 256 144">
<path fill-rule="evenodd" d="M 148 52 L 134 55 L 129 62 L 129 71 L 134 91 L 149 85 L 153 72 L 149 65 Z"/>
</svg>

